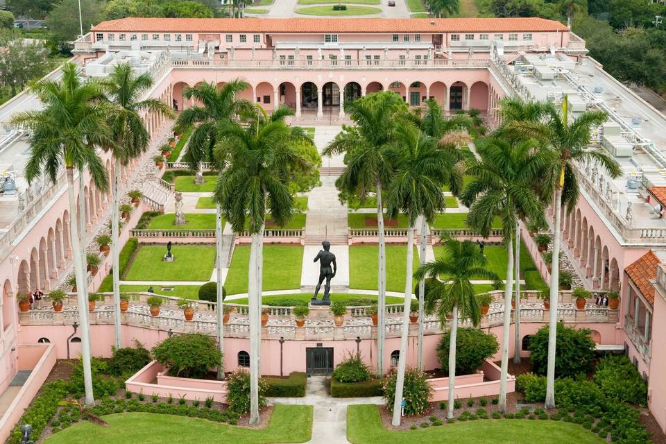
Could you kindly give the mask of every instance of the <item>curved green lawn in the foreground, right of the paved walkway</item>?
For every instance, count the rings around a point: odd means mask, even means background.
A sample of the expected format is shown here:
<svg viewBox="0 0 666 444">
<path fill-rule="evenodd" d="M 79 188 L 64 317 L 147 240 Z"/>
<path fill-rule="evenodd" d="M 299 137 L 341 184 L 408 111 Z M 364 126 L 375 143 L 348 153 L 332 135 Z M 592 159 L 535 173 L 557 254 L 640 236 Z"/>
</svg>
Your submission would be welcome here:
<svg viewBox="0 0 666 444">
<path fill-rule="evenodd" d="M 604 444 L 606 440 L 572 422 L 477 420 L 394 432 L 382 426 L 376 405 L 347 407 L 347 439 L 352 444 Z"/>
</svg>

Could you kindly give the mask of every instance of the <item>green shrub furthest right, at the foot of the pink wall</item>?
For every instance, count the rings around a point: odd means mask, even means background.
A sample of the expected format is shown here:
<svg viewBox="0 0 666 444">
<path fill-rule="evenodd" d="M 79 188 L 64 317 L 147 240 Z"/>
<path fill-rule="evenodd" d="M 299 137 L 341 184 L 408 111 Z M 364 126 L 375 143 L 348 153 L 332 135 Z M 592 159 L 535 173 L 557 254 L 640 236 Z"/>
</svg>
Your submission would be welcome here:
<svg viewBox="0 0 666 444">
<path fill-rule="evenodd" d="M 601 359 L 595 372 L 595 383 L 608 398 L 644 405 L 647 386 L 638 370 L 626 356 Z"/>
</svg>

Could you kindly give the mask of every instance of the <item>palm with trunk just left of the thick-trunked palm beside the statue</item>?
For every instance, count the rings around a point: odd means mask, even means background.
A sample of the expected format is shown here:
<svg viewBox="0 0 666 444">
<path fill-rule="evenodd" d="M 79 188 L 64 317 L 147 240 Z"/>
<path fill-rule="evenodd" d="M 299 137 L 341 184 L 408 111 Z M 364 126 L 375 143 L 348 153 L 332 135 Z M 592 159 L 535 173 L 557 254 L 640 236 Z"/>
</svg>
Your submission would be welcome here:
<svg viewBox="0 0 666 444">
<path fill-rule="evenodd" d="M 250 85 L 245 80 L 231 80 L 219 90 L 212 83 L 202 83 L 185 89 L 185 98 L 196 99 L 201 105 L 194 105 L 180 113 L 174 129 L 184 132 L 195 126 L 185 148 L 183 159 L 189 163 L 191 171 L 199 171 L 203 162 L 211 162 L 219 171 L 221 165 L 215 162 L 213 149 L 218 140 L 219 127 L 226 125 L 238 114 L 252 109 L 252 104 L 239 99 L 238 95 Z M 215 205 L 215 250 L 217 257 L 216 317 L 217 346 L 224 352 L 223 288 L 222 288 L 222 210 Z M 224 367 L 217 369 L 218 379 L 224 379 Z"/>
</svg>

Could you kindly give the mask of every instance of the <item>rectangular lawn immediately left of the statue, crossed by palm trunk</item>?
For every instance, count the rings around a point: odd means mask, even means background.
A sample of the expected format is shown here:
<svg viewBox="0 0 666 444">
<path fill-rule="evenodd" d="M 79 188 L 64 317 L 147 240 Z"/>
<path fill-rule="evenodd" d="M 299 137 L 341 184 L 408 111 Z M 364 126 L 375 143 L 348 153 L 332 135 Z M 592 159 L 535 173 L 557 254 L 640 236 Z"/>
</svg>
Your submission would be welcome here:
<svg viewBox="0 0 666 444">
<path fill-rule="evenodd" d="M 248 292 L 248 265 L 250 246 L 237 246 L 224 287 L 228 294 Z M 303 264 L 301 246 L 264 245 L 263 290 L 291 290 L 300 288 Z M 210 276 L 209 276 L 210 277 Z"/>
</svg>

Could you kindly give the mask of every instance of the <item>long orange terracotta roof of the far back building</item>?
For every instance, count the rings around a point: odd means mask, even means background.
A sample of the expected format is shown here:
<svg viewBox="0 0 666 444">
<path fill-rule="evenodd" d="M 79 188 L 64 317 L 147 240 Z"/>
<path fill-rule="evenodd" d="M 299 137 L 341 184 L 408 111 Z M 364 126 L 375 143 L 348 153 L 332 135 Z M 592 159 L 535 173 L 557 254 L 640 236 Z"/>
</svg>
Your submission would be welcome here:
<svg viewBox="0 0 666 444">
<path fill-rule="evenodd" d="M 127 17 L 93 26 L 92 31 L 191 33 L 456 33 L 568 31 L 538 17 L 471 19 L 171 19 Z"/>
</svg>

